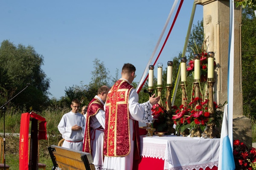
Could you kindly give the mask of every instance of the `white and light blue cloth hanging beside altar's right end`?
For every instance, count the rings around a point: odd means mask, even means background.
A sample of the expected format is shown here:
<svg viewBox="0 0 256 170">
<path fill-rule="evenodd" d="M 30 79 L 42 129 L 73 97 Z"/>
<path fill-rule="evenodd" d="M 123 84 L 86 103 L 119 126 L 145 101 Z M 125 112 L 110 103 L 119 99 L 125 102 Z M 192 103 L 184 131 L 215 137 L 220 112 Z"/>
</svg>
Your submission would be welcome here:
<svg viewBox="0 0 256 170">
<path fill-rule="evenodd" d="M 236 166 L 234 164 L 233 149 L 232 149 L 233 139 L 229 139 L 229 136 L 228 136 L 228 130 L 230 130 L 229 129 L 230 126 L 228 126 L 229 124 L 232 125 L 233 120 L 231 119 L 228 122 L 228 104 L 226 104 L 224 108 L 224 115 L 223 115 L 222 128 L 221 128 L 221 143 L 219 145 L 218 170 L 236 169 Z M 232 126 L 231 126 L 231 129 L 232 129 Z"/>
</svg>

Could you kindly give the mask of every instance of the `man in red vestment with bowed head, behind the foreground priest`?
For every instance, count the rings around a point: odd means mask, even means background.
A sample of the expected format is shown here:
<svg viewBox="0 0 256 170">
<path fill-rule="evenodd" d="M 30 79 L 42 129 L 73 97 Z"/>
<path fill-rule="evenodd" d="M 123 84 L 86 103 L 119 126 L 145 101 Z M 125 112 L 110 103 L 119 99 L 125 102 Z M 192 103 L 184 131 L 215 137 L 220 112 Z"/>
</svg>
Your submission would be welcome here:
<svg viewBox="0 0 256 170">
<path fill-rule="evenodd" d="M 88 105 L 83 151 L 91 153 L 95 169 L 103 169 L 103 141 L 105 129 L 104 103 L 109 92 L 108 86 L 98 89 L 98 94 Z"/>
</svg>

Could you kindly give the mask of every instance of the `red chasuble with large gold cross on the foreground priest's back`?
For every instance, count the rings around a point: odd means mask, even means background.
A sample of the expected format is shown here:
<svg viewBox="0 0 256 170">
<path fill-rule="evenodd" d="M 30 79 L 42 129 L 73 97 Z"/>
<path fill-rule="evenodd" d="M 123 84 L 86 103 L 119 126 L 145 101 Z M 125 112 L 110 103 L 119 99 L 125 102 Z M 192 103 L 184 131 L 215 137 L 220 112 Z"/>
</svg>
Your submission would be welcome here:
<svg viewBox="0 0 256 170">
<path fill-rule="evenodd" d="M 103 147 L 105 156 L 126 156 L 130 153 L 132 136 L 130 136 L 128 106 L 132 88 L 127 81 L 118 80 L 106 99 Z"/>
</svg>

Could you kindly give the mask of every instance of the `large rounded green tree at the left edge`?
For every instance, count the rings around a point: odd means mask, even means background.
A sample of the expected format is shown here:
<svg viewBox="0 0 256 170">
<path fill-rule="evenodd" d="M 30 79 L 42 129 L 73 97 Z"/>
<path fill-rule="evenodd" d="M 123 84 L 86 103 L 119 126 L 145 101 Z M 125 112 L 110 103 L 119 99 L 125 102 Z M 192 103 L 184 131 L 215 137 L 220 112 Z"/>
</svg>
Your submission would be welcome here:
<svg viewBox="0 0 256 170">
<path fill-rule="evenodd" d="M 15 46 L 9 40 L 3 40 L 0 47 L 0 87 L 4 89 L 8 100 L 24 89 L 12 103 L 17 107 L 24 107 L 29 111 L 41 111 L 47 105 L 50 79 L 42 70 L 43 56 L 38 54 L 32 46 L 18 44 Z"/>
</svg>

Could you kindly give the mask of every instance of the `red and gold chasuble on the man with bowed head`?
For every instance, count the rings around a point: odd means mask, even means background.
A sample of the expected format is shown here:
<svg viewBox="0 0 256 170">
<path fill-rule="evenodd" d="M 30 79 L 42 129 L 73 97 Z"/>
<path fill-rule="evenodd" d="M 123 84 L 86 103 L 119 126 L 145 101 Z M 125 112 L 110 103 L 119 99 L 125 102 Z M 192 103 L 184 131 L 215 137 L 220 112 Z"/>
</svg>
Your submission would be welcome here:
<svg viewBox="0 0 256 170">
<path fill-rule="evenodd" d="M 86 115 L 83 151 L 87 153 L 91 153 L 90 117 L 96 115 L 99 109 L 102 109 L 104 111 L 104 105 L 99 101 L 99 99 L 94 98 L 93 100 L 91 100 L 91 102 L 88 105 L 87 115 Z"/>
</svg>

